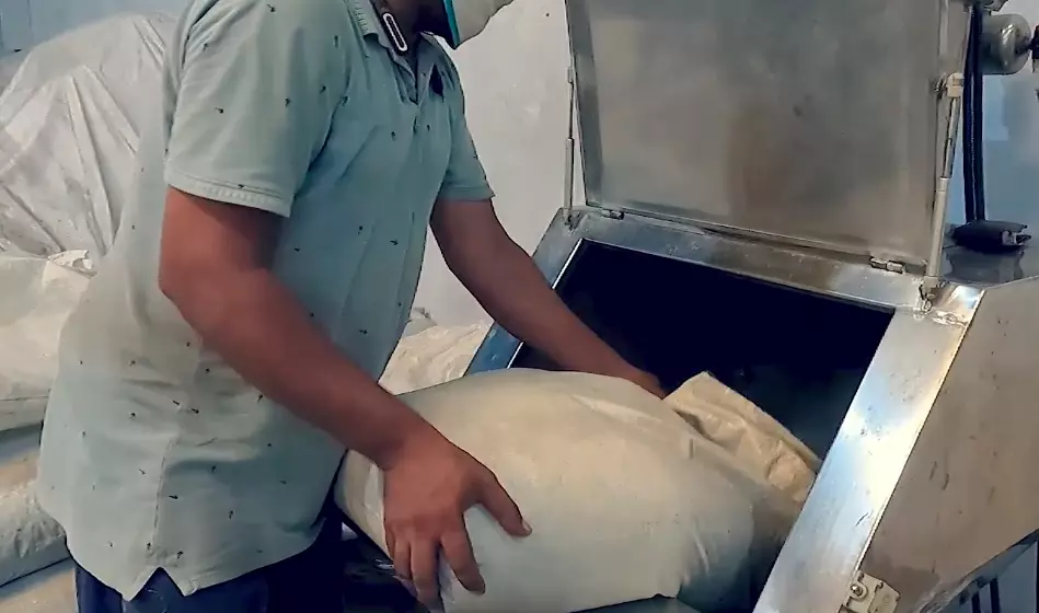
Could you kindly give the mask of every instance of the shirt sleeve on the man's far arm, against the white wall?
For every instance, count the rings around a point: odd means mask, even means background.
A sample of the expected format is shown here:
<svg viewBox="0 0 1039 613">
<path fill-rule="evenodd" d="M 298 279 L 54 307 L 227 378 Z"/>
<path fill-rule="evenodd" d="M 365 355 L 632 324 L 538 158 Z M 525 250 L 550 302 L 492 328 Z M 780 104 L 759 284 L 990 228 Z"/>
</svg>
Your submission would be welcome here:
<svg viewBox="0 0 1039 613">
<path fill-rule="evenodd" d="M 453 72 L 446 94 L 451 104 L 451 158 L 440 186 L 440 200 L 484 201 L 494 197 L 487 174 L 480 162 L 473 136 L 465 120 L 465 94 Z"/>
</svg>

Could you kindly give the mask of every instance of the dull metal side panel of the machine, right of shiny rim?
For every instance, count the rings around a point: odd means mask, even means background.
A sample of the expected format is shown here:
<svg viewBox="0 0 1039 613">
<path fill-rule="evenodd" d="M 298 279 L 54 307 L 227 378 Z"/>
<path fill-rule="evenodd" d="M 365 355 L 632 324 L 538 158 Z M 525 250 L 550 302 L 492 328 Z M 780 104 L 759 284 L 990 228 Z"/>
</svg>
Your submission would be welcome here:
<svg viewBox="0 0 1039 613">
<path fill-rule="evenodd" d="M 1039 278 L 985 290 L 863 569 L 938 611 L 1039 529 Z"/>
</svg>

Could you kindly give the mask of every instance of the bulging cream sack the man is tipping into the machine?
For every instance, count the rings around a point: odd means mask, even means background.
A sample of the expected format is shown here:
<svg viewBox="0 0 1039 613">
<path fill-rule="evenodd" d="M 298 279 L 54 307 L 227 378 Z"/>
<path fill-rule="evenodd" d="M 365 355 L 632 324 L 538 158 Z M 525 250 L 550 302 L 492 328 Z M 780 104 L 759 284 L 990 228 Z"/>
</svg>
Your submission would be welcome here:
<svg viewBox="0 0 1039 613">
<path fill-rule="evenodd" d="M 564 613 L 679 594 L 707 613 L 744 605 L 749 569 L 774 562 L 774 534 L 754 525 L 774 496 L 769 479 L 632 383 L 511 369 L 401 398 L 494 471 L 533 527 L 515 541 L 471 510 L 487 591 L 467 592 L 442 567 L 447 613 Z M 336 493 L 384 547 L 378 469 L 350 453 Z M 797 508 L 766 509 L 766 531 L 782 531 L 777 517 L 793 523 Z"/>
</svg>

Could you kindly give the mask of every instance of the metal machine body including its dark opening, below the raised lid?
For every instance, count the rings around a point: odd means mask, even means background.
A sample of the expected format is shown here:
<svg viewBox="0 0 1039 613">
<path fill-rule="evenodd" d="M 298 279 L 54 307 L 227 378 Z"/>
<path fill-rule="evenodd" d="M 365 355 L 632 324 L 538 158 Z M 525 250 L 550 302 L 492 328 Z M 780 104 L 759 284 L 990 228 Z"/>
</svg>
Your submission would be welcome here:
<svg viewBox="0 0 1039 613">
<path fill-rule="evenodd" d="M 939 611 L 1039 527 L 1035 278 L 924 302 L 884 259 L 616 211 L 556 216 L 534 261 L 665 388 L 709 372 L 823 459 L 754 611 Z M 510 367 L 553 365 L 494 326 L 470 372 Z"/>
</svg>

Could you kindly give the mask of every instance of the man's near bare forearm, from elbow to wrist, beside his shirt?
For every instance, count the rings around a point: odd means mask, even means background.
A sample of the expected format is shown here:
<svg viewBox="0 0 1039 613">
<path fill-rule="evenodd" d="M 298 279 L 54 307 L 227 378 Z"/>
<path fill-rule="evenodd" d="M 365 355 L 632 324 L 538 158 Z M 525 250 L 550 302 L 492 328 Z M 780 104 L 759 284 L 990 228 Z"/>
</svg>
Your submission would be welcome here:
<svg viewBox="0 0 1039 613">
<path fill-rule="evenodd" d="M 383 469 L 412 433 L 431 429 L 343 356 L 269 270 L 199 274 L 163 290 L 265 395 Z"/>
</svg>

